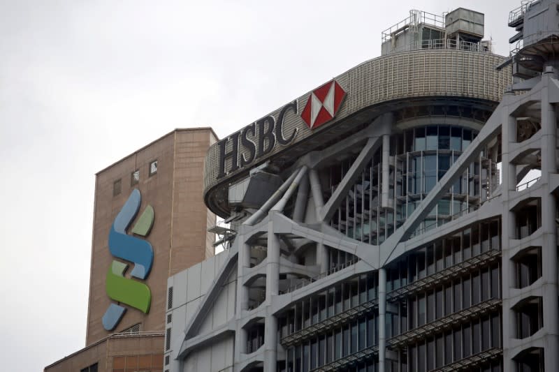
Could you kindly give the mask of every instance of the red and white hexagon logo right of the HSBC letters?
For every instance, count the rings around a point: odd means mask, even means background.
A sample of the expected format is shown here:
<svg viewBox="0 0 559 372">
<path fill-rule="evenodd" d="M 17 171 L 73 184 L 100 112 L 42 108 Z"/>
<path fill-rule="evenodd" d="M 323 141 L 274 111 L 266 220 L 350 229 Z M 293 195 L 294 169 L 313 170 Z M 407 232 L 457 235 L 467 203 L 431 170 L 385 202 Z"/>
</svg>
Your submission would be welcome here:
<svg viewBox="0 0 559 372">
<path fill-rule="evenodd" d="M 344 97 L 344 89 L 337 81 L 331 80 L 311 92 L 301 117 L 309 128 L 318 128 L 335 117 Z"/>
</svg>

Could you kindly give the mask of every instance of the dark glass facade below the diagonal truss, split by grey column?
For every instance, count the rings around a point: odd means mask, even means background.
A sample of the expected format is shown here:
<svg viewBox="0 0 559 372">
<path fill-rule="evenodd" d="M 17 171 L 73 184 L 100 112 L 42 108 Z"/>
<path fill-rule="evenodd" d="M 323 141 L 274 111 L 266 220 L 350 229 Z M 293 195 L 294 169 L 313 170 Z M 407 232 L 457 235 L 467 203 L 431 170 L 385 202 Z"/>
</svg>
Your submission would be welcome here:
<svg viewBox="0 0 559 372">
<path fill-rule="evenodd" d="M 474 223 L 387 267 L 387 371 L 431 371 L 482 352 L 486 362 L 469 371 L 502 371 L 500 238 L 499 218 Z M 378 321 L 377 271 L 293 303 L 279 316 L 279 371 L 377 371 Z"/>
</svg>

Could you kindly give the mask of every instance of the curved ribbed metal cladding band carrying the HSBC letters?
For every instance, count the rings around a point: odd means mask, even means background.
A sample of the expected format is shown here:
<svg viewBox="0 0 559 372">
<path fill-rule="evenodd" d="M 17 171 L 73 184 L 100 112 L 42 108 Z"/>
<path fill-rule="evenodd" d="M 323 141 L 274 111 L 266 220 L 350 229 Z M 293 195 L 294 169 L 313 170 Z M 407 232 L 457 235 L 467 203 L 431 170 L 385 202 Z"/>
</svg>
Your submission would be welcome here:
<svg viewBox="0 0 559 372">
<path fill-rule="evenodd" d="M 289 165 L 330 139 L 328 133 L 336 131 L 340 137 L 389 111 L 388 104 L 443 98 L 492 110 L 509 84 L 509 70 L 495 71 L 502 61 L 504 57 L 487 52 L 416 50 L 351 68 L 333 79 L 347 94 L 337 101 L 339 110 L 332 120 L 312 128 L 305 123 L 311 91 L 212 145 L 205 163 L 205 202 L 215 213 L 228 216 L 226 187 L 245 177 L 249 168 L 266 160 Z"/>
</svg>

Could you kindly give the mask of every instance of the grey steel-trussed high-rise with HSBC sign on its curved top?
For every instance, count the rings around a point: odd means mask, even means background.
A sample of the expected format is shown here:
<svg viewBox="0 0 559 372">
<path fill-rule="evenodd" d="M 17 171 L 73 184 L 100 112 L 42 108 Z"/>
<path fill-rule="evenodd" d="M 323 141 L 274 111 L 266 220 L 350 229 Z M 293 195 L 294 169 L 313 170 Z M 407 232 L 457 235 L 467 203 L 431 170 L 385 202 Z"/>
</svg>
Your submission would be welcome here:
<svg viewBox="0 0 559 372">
<path fill-rule="evenodd" d="M 213 144 L 227 249 L 169 278 L 164 371 L 556 371 L 558 7 L 511 13 L 509 59 L 414 10 Z"/>
</svg>

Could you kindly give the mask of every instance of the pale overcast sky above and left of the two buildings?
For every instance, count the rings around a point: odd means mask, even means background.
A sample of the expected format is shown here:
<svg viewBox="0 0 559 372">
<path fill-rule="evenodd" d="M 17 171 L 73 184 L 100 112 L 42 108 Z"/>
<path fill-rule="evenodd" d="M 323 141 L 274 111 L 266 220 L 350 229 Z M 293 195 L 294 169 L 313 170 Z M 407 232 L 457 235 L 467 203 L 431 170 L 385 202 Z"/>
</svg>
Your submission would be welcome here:
<svg viewBox="0 0 559 372">
<path fill-rule="evenodd" d="M 0 0 L 1 369 L 85 345 L 96 172 L 173 128 L 233 133 L 378 57 L 409 9 L 485 13 L 508 55 L 519 5 Z"/>
</svg>

